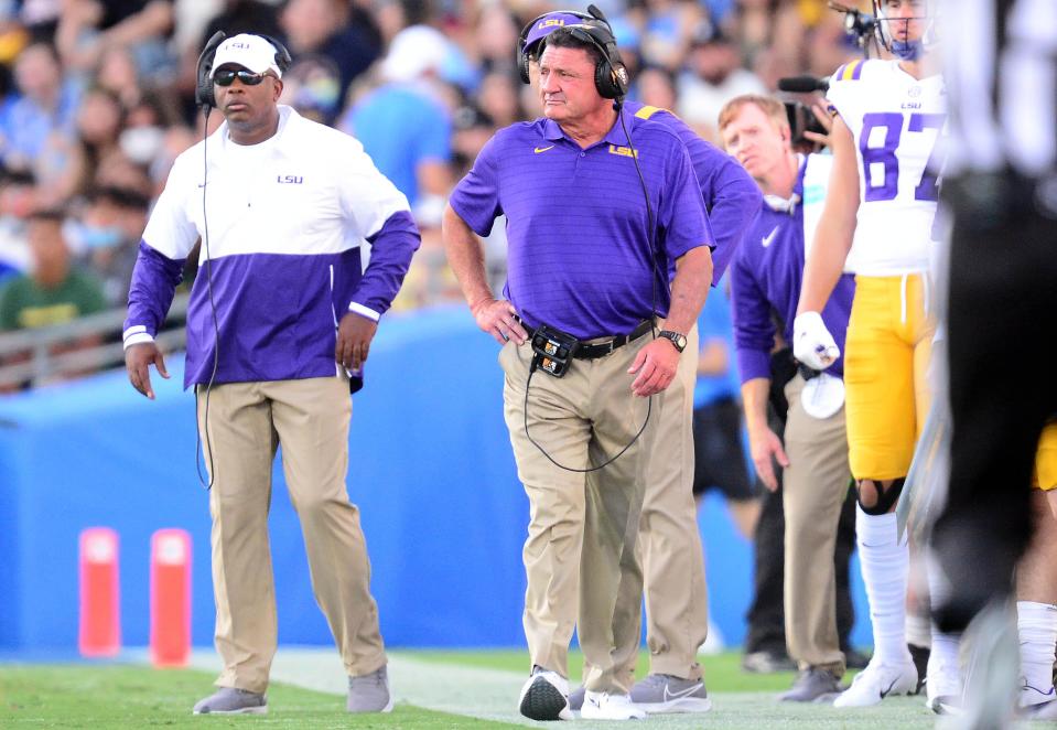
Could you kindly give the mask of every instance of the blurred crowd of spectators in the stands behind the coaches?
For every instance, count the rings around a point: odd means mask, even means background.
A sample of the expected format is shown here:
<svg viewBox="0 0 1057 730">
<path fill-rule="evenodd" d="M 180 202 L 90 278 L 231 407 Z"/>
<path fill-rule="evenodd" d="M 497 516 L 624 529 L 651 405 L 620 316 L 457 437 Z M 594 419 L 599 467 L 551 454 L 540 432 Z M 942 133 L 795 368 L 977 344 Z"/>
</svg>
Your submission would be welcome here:
<svg viewBox="0 0 1057 730">
<path fill-rule="evenodd" d="M 731 97 L 773 92 L 781 76 L 829 75 L 860 54 L 824 0 L 596 4 L 633 72 L 632 97 L 675 110 L 713 142 Z M 282 103 L 357 137 L 407 194 L 423 243 L 395 308 L 459 299 L 440 245 L 449 191 L 496 129 L 538 116 L 514 49 L 526 22 L 563 7 L 585 10 L 540 0 L 0 0 L 0 329 L 125 305 L 148 211 L 175 157 L 203 136 L 195 67 L 217 30 L 280 39 L 293 57 Z M 222 120 L 213 114 L 209 130 Z M 486 250 L 499 285 L 501 226 Z"/>
</svg>

